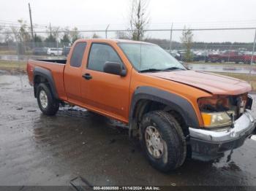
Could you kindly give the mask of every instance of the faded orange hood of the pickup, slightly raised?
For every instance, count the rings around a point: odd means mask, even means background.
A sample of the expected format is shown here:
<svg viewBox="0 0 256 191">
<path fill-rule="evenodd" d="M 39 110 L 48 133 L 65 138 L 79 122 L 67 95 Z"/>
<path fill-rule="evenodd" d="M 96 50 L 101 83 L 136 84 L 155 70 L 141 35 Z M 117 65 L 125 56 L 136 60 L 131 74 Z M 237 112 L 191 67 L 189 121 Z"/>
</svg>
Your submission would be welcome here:
<svg viewBox="0 0 256 191">
<path fill-rule="evenodd" d="M 215 95 L 239 95 L 252 90 L 251 85 L 243 80 L 201 71 L 162 71 L 146 74 L 197 87 Z"/>
</svg>

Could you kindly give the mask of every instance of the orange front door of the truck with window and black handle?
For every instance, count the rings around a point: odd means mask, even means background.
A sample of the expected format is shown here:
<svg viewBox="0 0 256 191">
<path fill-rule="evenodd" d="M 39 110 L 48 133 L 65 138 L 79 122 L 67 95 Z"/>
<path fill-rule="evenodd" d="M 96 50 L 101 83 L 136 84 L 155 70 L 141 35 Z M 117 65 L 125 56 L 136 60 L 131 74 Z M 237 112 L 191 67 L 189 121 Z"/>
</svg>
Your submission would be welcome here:
<svg viewBox="0 0 256 191">
<path fill-rule="evenodd" d="M 124 66 L 124 62 L 110 44 L 92 43 L 87 66 L 83 69 L 81 93 L 92 109 L 125 121 L 129 113 L 130 72 L 127 71 L 125 77 L 105 73 L 103 66 L 107 61 L 118 62 Z"/>
</svg>

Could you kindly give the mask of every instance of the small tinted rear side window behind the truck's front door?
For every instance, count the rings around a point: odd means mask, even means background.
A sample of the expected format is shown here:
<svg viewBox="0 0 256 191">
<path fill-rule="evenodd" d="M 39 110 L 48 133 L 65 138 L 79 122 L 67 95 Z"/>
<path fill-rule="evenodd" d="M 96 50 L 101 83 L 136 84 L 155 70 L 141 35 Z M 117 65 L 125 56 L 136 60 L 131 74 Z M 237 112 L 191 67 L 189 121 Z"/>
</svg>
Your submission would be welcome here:
<svg viewBox="0 0 256 191">
<path fill-rule="evenodd" d="M 83 60 L 83 53 L 86 50 L 86 42 L 78 42 L 75 44 L 74 51 L 70 59 L 70 66 L 80 67 Z"/>
</svg>

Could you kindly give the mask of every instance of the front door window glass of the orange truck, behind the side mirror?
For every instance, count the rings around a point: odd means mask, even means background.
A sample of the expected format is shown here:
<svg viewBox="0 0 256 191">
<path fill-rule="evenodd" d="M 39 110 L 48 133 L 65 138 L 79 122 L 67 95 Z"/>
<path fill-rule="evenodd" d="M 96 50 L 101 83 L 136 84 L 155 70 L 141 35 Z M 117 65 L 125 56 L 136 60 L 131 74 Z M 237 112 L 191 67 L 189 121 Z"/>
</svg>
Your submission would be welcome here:
<svg viewBox="0 0 256 191">
<path fill-rule="evenodd" d="M 103 71 L 105 62 L 122 63 L 113 47 L 108 44 L 92 44 L 89 55 L 88 69 Z"/>
</svg>

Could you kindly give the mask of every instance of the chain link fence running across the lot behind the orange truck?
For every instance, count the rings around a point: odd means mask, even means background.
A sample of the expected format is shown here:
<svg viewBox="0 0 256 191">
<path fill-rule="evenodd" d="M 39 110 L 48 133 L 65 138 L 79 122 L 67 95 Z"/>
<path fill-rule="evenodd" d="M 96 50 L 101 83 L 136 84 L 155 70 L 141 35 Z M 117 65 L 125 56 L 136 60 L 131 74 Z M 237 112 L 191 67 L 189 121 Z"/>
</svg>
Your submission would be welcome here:
<svg viewBox="0 0 256 191">
<path fill-rule="evenodd" d="M 255 28 L 191 29 L 189 59 L 187 47 L 181 43 L 184 29 L 146 30 L 143 41 L 158 44 L 179 61 L 189 63 L 255 63 Z M 80 38 L 129 39 L 131 31 L 99 30 L 77 31 Z M 0 34 L 0 60 L 26 61 L 28 59 L 66 58 L 72 42 L 65 40 L 67 31 L 59 31 L 49 42 L 49 32 L 36 32 L 39 42 L 15 42 L 14 34 Z M 70 40 L 72 41 L 72 40 Z"/>
</svg>

